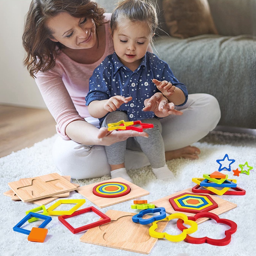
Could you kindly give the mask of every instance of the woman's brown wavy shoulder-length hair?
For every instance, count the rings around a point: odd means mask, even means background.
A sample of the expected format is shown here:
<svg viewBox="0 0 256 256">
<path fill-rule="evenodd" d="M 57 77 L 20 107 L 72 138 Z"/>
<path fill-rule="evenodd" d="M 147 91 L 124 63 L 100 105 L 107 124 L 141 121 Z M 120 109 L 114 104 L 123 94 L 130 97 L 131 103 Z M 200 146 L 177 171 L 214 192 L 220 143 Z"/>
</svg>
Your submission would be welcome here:
<svg viewBox="0 0 256 256">
<path fill-rule="evenodd" d="M 76 18 L 92 17 L 96 27 L 104 23 L 103 8 L 90 0 L 32 0 L 26 15 L 22 36 L 23 47 L 26 51 L 24 65 L 30 76 L 40 71 L 54 68 L 59 42 L 50 40 L 52 31 L 47 28 L 48 19 L 60 12 L 67 12 Z"/>
</svg>

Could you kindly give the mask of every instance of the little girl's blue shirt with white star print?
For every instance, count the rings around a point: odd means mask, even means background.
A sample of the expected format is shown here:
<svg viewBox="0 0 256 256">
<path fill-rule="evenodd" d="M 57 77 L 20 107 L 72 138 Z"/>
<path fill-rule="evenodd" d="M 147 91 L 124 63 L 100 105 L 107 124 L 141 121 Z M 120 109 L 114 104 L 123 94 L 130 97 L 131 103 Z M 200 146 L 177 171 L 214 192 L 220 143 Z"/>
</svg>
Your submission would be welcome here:
<svg viewBox="0 0 256 256">
<path fill-rule="evenodd" d="M 166 80 L 180 88 L 186 97 L 182 106 L 187 102 L 188 91 L 184 84 L 180 83 L 173 75 L 166 62 L 160 60 L 155 54 L 146 52 L 140 66 L 132 71 L 125 67 L 118 59 L 116 53 L 108 55 L 100 65 L 94 69 L 90 78 L 89 92 L 85 98 L 88 106 L 93 100 L 107 100 L 115 95 L 124 97 L 132 96 L 132 100 L 124 103 L 117 109 L 124 111 L 130 121 L 137 121 L 155 117 L 154 112 L 142 111 L 144 100 L 160 92 L 152 79 Z M 99 118 L 100 125 L 105 116 Z"/>
</svg>

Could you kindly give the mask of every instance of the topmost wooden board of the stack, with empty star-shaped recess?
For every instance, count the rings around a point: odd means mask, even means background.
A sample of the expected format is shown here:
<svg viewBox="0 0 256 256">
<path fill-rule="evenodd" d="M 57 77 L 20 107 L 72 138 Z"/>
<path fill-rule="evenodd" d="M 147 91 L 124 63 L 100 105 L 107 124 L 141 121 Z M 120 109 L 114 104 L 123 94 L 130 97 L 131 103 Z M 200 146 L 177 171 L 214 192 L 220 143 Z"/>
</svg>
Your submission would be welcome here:
<svg viewBox="0 0 256 256">
<path fill-rule="evenodd" d="M 30 202 L 76 190 L 74 184 L 58 173 L 20 179 L 18 181 L 9 182 L 8 186 L 20 197 L 22 202 Z"/>
</svg>

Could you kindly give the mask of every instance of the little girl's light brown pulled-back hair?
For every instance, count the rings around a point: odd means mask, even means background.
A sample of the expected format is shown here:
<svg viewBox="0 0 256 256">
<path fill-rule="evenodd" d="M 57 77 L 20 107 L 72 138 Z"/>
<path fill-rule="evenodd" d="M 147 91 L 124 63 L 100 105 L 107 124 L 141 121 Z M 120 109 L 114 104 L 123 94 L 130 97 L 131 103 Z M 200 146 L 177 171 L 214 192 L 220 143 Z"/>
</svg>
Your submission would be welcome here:
<svg viewBox="0 0 256 256">
<path fill-rule="evenodd" d="M 113 31 L 118 27 L 119 20 L 122 18 L 131 20 L 132 22 L 147 22 L 148 28 L 150 29 L 150 32 L 152 34 L 154 34 L 156 32 L 156 29 L 158 28 L 156 5 L 154 5 L 150 1 L 124 0 L 118 3 L 117 7 L 114 9 L 112 13 L 110 20 L 110 28 L 112 35 Z"/>
</svg>

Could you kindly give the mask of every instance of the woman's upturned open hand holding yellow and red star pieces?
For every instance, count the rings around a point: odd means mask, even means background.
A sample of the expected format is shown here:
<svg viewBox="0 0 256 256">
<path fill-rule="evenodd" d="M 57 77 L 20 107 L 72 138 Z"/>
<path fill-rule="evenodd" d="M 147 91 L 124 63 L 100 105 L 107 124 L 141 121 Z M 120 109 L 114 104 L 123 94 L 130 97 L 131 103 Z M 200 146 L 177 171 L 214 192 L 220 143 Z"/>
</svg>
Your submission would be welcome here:
<svg viewBox="0 0 256 256">
<path fill-rule="evenodd" d="M 101 127 L 98 133 L 98 139 L 100 139 L 99 145 L 104 145 L 104 146 L 109 146 L 118 141 L 127 140 L 129 137 L 138 137 L 138 136 L 148 138 L 148 133 L 136 132 L 132 130 L 108 131 L 107 127 Z"/>
</svg>

